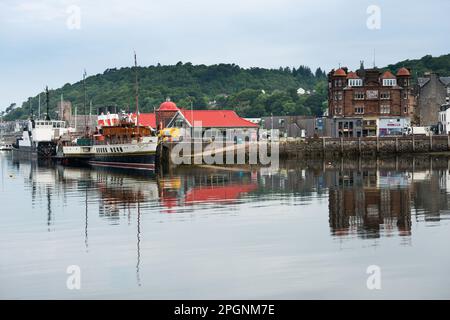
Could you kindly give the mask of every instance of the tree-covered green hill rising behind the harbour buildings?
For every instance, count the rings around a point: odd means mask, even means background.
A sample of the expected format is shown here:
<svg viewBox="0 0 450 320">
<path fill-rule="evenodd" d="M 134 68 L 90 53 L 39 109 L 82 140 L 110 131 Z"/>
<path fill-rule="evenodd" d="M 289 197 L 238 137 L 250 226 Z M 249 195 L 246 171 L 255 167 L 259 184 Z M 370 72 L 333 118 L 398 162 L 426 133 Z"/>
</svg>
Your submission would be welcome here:
<svg viewBox="0 0 450 320">
<path fill-rule="evenodd" d="M 417 78 L 433 71 L 450 75 L 450 54 L 440 57 L 425 56 L 418 60 L 405 60 L 387 66 L 396 71 L 411 68 Z M 102 74 L 86 79 L 88 101 L 93 112 L 98 107 L 118 106 L 134 110 L 134 68 L 107 69 Z M 309 67 L 298 68 L 241 68 L 235 64 L 193 65 L 179 62 L 169 66 L 138 67 L 139 101 L 142 112 L 153 111 L 170 97 L 181 107 L 192 105 L 198 109 L 228 108 L 244 117 L 277 115 L 321 115 L 326 109 L 326 72 Z M 310 94 L 299 96 L 297 89 Z M 66 84 L 50 91 L 52 117 L 56 116 L 56 103 L 61 94 L 83 113 L 84 92 L 82 82 Z M 41 111 L 45 95 L 41 93 Z M 31 97 L 34 114 L 37 113 L 38 96 Z M 30 115 L 28 101 L 9 107 L 5 120 L 25 119 Z"/>
</svg>

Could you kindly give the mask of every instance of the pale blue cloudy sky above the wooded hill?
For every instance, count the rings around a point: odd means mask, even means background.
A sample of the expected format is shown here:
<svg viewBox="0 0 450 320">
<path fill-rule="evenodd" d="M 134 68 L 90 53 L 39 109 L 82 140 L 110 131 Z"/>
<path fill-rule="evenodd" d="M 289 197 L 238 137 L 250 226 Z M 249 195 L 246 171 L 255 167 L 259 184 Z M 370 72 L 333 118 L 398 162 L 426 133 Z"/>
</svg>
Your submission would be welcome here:
<svg viewBox="0 0 450 320">
<path fill-rule="evenodd" d="M 450 1 L 0 0 L 0 110 L 141 66 L 386 66 L 450 53 Z M 375 51 L 375 54 L 374 54 Z"/>
</svg>

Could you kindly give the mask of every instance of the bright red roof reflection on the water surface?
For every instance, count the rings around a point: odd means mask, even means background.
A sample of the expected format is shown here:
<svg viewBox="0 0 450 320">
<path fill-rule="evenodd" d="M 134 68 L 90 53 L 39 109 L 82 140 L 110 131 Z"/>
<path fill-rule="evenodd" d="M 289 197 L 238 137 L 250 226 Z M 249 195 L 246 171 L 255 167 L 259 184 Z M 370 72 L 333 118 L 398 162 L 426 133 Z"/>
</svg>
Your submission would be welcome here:
<svg viewBox="0 0 450 320">
<path fill-rule="evenodd" d="M 251 192 L 256 188 L 256 184 L 197 187 L 189 190 L 185 197 L 185 203 L 236 200 L 241 194 Z"/>
</svg>

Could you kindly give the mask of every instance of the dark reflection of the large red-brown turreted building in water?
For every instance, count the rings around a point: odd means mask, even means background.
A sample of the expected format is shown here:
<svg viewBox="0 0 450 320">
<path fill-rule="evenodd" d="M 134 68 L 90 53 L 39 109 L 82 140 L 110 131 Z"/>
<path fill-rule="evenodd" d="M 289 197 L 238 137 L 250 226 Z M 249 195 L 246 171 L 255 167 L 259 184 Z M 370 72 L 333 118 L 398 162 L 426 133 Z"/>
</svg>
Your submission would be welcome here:
<svg viewBox="0 0 450 320">
<path fill-rule="evenodd" d="M 380 187 L 378 179 L 376 171 L 336 172 L 329 194 L 330 227 L 335 235 L 378 238 L 380 232 L 395 228 L 401 235 L 411 233 L 409 190 Z"/>
</svg>

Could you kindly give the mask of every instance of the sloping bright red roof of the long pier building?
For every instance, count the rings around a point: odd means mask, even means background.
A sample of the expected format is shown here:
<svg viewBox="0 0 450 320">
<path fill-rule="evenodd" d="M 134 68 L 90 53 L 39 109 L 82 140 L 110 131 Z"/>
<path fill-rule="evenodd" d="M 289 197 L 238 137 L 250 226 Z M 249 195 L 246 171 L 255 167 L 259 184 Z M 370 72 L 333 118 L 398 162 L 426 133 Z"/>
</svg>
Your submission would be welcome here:
<svg viewBox="0 0 450 320">
<path fill-rule="evenodd" d="M 206 128 L 257 128 L 258 125 L 239 117 L 233 110 L 185 110 L 180 109 L 186 120 L 201 121 Z"/>
</svg>

